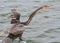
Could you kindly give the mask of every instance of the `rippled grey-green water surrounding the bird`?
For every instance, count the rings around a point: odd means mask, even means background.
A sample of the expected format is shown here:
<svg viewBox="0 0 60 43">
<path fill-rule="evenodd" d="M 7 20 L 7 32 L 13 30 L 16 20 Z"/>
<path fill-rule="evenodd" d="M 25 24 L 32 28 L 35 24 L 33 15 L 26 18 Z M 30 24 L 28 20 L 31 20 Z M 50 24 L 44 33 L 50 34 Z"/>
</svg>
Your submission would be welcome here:
<svg viewBox="0 0 60 43">
<path fill-rule="evenodd" d="M 26 21 L 34 9 L 46 4 L 51 7 L 37 13 L 23 39 L 27 43 L 60 43 L 60 0 L 0 0 L 0 30 L 9 27 L 6 16 L 12 8 L 21 13 L 21 21 Z"/>
</svg>

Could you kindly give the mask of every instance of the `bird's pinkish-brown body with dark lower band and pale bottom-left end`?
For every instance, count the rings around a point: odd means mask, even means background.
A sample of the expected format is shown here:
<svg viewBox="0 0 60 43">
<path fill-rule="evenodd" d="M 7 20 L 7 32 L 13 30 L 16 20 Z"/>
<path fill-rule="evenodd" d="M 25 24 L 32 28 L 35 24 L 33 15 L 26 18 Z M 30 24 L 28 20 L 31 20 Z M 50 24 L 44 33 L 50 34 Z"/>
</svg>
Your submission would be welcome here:
<svg viewBox="0 0 60 43">
<path fill-rule="evenodd" d="M 21 33 L 24 32 L 24 30 L 24 25 L 12 24 L 12 27 L 8 30 L 9 35 L 3 40 L 0 40 L 0 43 L 12 43 L 16 38 L 20 36 Z"/>
</svg>

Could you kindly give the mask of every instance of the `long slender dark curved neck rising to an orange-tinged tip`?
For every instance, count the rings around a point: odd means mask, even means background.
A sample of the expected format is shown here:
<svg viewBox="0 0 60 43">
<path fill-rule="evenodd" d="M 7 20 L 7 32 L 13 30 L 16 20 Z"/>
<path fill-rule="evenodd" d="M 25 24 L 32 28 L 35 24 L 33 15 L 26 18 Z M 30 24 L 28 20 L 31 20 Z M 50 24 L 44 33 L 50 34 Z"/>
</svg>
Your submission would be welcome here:
<svg viewBox="0 0 60 43">
<path fill-rule="evenodd" d="M 47 9 L 48 7 L 49 7 L 48 5 L 44 5 L 44 6 L 41 6 L 41 7 L 37 8 L 35 11 L 33 11 L 31 13 L 31 15 L 29 16 L 28 20 L 26 22 L 21 22 L 21 24 L 28 25 L 31 22 L 32 18 L 36 15 L 37 11 L 39 11 L 39 10 L 41 10 L 43 8 Z"/>
</svg>

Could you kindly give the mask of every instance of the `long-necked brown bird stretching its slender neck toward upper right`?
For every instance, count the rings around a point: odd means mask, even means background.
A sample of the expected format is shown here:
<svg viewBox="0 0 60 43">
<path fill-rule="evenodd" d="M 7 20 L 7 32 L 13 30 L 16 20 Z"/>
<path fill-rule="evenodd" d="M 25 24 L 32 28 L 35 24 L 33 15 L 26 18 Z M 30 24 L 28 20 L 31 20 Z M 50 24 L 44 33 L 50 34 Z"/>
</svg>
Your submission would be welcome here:
<svg viewBox="0 0 60 43">
<path fill-rule="evenodd" d="M 22 29 L 22 28 L 24 26 L 29 25 L 32 18 L 36 15 L 37 11 L 39 11 L 43 8 L 48 8 L 48 7 L 49 6 L 45 5 L 45 6 L 37 8 L 34 12 L 31 13 L 31 15 L 29 16 L 29 18 L 26 22 L 17 23 L 18 20 L 15 21 L 15 24 L 9 30 L 9 35 L 5 39 L 3 39 L 1 43 L 12 43 L 12 41 L 14 41 L 17 37 L 19 37 L 19 39 L 22 40 L 22 34 L 23 34 L 23 31 L 24 31 L 24 29 Z M 22 31 L 19 30 L 20 28 L 21 28 Z"/>
</svg>

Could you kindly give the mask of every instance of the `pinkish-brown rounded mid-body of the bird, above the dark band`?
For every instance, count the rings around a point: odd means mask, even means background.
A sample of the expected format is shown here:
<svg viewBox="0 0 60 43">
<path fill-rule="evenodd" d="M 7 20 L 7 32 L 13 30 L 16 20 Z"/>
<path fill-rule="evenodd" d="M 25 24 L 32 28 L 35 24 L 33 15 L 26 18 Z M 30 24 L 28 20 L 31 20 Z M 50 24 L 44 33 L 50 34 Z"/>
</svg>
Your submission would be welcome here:
<svg viewBox="0 0 60 43">
<path fill-rule="evenodd" d="M 11 28 L 8 30 L 9 33 L 12 33 L 14 35 L 20 34 L 21 32 L 24 32 L 25 28 L 23 24 L 12 24 Z"/>
</svg>

